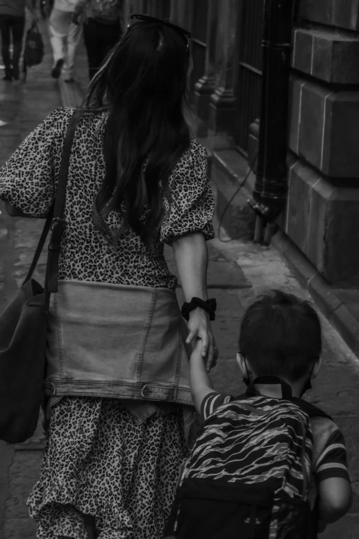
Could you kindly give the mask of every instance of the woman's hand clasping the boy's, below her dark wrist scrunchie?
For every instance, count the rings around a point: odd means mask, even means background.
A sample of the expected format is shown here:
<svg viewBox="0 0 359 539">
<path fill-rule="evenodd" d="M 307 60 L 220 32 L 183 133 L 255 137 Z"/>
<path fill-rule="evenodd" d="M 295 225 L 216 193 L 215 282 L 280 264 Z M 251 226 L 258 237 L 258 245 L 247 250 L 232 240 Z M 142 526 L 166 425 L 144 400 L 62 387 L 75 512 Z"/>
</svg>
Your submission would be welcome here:
<svg viewBox="0 0 359 539">
<path fill-rule="evenodd" d="M 212 328 L 208 313 L 200 307 L 191 310 L 188 320 L 189 334 L 186 339 L 187 344 L 192 344 L 195 339 L 202 340 L 201 355 L 206 358 L 206 370 L 215 367 L 217 363 L 218 350 L 213 337 Z"/>
</svg>

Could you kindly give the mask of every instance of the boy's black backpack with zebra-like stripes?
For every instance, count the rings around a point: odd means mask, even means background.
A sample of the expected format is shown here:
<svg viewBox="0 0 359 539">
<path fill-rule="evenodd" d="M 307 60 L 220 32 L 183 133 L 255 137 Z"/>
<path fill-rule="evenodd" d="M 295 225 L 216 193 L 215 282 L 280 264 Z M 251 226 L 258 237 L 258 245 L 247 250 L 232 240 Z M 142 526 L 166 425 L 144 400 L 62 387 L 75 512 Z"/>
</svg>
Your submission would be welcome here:
<svg viewBox="0 0 359 539">
<path fill-rule="evenodd" d="M 261 396 L 252 384 L 200 427 L 177 489 L 176 539 L 316 538 L 307 500 L 313 448 L 309 417 L 329 416 L 292 398 L 290 386 L 275 380 L 283 399 Z"/>
</svg>

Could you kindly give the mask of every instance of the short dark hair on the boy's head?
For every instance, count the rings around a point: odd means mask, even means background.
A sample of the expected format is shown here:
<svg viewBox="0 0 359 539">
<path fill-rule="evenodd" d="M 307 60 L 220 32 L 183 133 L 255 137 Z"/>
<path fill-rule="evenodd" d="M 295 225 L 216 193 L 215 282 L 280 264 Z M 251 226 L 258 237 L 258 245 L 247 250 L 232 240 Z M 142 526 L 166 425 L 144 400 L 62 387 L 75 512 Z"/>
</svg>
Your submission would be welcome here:
<svg viewBox="0 0 359 539">
<path fill-rule="evenodd" d="M 302 299 L 271 290 L 252 304 L 241 321 L 239 351 L 258 376 L 295 382 L 322 351 L 320 320 Z"/>
</svg>

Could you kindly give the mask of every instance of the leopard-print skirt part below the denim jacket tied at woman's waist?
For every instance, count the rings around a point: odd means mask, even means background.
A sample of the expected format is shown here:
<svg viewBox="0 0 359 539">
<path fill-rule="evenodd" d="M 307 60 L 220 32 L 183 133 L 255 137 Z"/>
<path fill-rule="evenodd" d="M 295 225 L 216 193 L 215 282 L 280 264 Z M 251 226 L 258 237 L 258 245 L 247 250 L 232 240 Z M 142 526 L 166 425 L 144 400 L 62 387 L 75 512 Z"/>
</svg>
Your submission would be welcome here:
<svg viewBox="0 0 359 539">
<path fill-rule="evenodd" d="M 161 539 L 188 456 L 181 410 L 138 423 L 116 399 L 54 405 L 41 477 L 28 499 L 38 539 Z"/>
</svg>

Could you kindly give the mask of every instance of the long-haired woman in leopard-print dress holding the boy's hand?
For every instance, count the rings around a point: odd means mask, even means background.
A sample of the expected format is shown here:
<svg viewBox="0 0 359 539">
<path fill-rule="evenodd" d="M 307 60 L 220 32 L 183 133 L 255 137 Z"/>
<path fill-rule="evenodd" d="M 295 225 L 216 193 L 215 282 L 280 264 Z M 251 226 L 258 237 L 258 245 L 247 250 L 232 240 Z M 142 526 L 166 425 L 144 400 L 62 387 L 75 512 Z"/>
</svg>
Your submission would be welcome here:
<svg viewBox="0 0 359 539">
<path fill-rule="evenodd" d="M 49 430 L 28 500 L 40 539 L 160 539 L 193 421 L 173 246 L 186 302 L 207 300 L 213 196 L 204 147 L 185 120 L 189 34 L 131 17 L 89 87 L 66 193 L 51 297 Z M 0 197 L 43 217 L 54 202 L 72 109 L 57 109 L 0 173 Z M 187 344 L 217 349 L 205 308 Z M 188 306 L 187 306 L 188 307 Z"/>
</svg>

